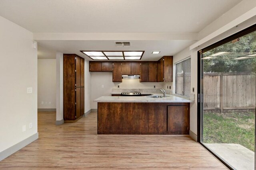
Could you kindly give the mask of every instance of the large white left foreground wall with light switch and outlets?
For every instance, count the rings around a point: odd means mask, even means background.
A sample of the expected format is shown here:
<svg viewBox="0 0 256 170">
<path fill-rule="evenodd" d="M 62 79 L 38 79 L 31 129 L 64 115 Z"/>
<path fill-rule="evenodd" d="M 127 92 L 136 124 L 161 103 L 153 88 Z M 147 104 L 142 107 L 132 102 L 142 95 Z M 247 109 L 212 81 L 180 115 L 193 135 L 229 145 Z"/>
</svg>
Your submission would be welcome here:
<svg viewBox="0 0 256 170">
<path fill-rule="evenodd" d="M 1 16 L 0 37 L 1 152 L 37 133 L 37 49 L 30 31 Z M 32 94 L 27 94 L 28 87 Z"/>
</svg>

